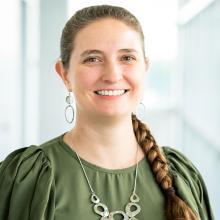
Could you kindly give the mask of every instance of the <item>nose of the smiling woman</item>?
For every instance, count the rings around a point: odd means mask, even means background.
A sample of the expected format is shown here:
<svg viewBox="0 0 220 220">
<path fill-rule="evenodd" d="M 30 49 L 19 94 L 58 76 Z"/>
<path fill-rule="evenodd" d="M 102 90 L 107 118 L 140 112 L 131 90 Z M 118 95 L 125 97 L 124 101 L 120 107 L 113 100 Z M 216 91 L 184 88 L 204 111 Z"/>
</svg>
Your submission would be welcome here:
<svg viewBox="0 0 220 220">
<path fill-rule="evenodd" d="M 102 74 L 102 80 L 104 82 L 115 83 L 123 78 L 122 68 L 118 63 L 108 62 Z"/>
</svg>

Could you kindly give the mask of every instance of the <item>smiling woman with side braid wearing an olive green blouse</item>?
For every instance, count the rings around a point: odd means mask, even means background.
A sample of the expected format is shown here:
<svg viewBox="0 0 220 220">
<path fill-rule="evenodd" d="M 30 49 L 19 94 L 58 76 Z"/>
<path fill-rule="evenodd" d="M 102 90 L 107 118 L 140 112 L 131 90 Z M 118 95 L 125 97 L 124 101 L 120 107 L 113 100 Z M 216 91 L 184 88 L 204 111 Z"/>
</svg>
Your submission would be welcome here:
<svg viewBox="0 0 220 220">
<path fill-rule="evenodd" d="M 75 126 L 3 161 L 0 219 L 213 219 L 196 168 L 159 148 L 132 113 L 148 65 L 141 26 L 127 10 L 92 6 L 70 18 L 56 71 L 75 96 L 76 111 L 66 99 Z"/>
</svg>

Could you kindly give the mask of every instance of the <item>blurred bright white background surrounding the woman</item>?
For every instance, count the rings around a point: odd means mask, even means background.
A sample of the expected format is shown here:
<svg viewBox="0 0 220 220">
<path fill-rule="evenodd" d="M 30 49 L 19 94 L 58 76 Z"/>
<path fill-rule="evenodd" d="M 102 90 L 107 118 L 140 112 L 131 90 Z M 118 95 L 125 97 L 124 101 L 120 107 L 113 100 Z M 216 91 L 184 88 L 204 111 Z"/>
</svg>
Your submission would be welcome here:
<svg viewBox="0 0 220 220">
<path fill-rule="evenodd" d="M 200 170 L 220 219 L 220 0 L 2 0 L 0 160 L 70 128 L 54 64 L 66 20 L 91 2 L 123 6 L 140 20 L 151 63 L 144 120 L 160 145 Z"/>
</svg>

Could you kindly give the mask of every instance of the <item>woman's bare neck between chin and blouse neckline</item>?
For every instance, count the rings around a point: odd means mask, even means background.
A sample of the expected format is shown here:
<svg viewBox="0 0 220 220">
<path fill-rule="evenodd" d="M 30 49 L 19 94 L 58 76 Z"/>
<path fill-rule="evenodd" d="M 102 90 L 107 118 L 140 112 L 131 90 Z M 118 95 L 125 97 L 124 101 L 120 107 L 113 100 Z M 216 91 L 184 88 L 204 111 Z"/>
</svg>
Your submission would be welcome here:
<svg viewBox="0 0 220 220">
<path fill-rule="evenodd" d="M 120 120 L 76 119 L 64 141 L 88 162 L 108 169 L 121 169 L 136 163 L 137 141 L 131 116 Z M 138 160 L 144 157 L 139 147 Z"/>
</svg>

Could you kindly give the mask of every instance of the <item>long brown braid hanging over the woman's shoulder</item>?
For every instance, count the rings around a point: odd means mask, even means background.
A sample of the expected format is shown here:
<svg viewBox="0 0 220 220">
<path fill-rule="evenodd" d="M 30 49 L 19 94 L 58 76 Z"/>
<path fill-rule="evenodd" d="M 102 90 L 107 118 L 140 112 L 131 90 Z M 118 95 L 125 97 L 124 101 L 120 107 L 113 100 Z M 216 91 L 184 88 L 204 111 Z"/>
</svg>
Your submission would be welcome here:
<svg viewBox="0 0 220 220">
<path fill-rule="evenodd" d="M 132 114 L 132 124 L 137 142 L 144 150 L 155 179 L 166 196 L 167 219 L 197 220 L 189 206 L 176 195 L 166 158 L 161 153 L 146 124 L 142 123 L 135 114 Z"/>
</svg>

